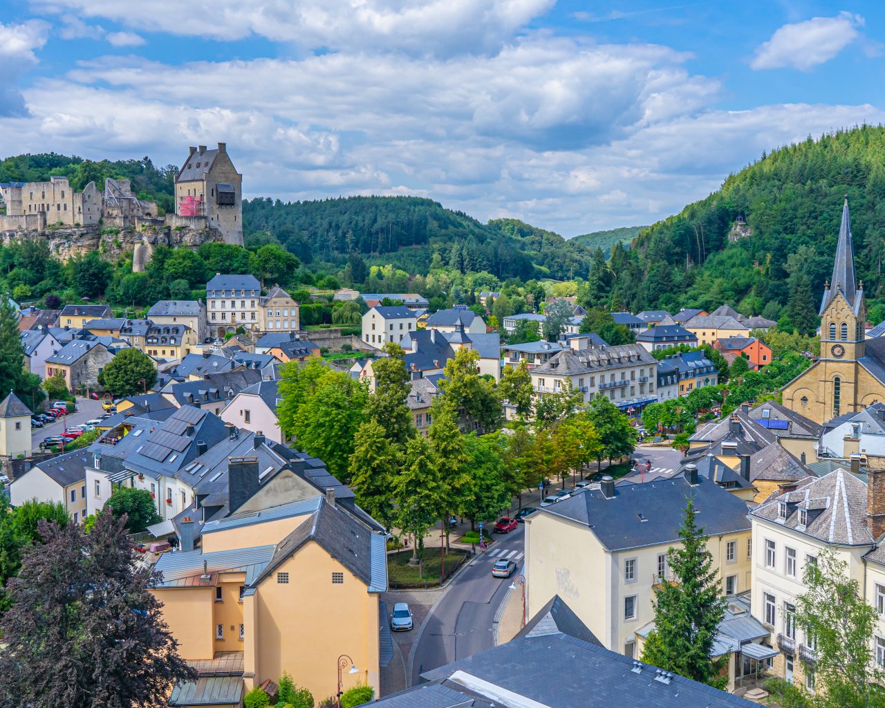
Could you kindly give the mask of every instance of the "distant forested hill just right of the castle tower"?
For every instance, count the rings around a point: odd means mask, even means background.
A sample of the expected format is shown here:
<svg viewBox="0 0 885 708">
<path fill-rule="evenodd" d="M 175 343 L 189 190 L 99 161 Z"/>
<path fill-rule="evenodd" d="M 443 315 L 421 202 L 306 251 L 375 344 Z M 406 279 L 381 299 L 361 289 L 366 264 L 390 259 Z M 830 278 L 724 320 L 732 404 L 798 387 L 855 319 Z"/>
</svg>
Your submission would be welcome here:
<svg viewBox="0 0 885 708">
<path fill-rule="evenodd" d="M 349 196 L 283 203 L 244 200 L 247 242 L 275 238 L 304 262 L 342 263 L 353 251 L 409 273 L 432 265 L 501 279 L 586 277 L 592 251 L 562 236 L 497 219 L 488 224 L 417 196 Z"/>
</svg>

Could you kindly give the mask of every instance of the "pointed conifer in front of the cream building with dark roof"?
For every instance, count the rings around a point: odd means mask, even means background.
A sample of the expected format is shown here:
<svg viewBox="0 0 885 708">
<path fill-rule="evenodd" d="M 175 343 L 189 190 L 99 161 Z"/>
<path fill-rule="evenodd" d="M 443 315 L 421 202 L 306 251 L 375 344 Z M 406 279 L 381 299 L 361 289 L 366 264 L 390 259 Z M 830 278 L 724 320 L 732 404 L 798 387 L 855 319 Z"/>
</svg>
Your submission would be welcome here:
<svg viewBox="0 0 885 708">
<path fill-rule="evenodd" d="M 713 659 L 710 650 L 726 603 L 704 528 L 697 526 L 695 515 L 689 497 L 679 529 L 681 546 L 667 550 L 673 580 L 661 579 L 654 586 L 655 628 L 646 640 L 643 661 L 724 688 L 727 677 L 720 672 L 727 658 Z"/>
</svg>

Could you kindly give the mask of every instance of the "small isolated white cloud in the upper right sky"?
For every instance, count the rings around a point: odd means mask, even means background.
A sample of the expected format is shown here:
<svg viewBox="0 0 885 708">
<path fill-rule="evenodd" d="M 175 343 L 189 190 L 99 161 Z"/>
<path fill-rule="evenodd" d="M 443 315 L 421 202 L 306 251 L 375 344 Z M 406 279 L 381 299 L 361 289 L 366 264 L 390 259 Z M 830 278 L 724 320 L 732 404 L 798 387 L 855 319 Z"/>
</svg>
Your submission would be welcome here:
<svg viewBox="0 0 885 708">
<path fill-rule="evenodd" d="M 758 46 L 750 66 L 754 69 L 792 66 L 808 71 L 834 58 L 858 39 L 858 27 L 863 24 L 860 15 L 840 12 L 835 17 L 815 17 L 784 25 L 770 40 Z"/>
</svg>

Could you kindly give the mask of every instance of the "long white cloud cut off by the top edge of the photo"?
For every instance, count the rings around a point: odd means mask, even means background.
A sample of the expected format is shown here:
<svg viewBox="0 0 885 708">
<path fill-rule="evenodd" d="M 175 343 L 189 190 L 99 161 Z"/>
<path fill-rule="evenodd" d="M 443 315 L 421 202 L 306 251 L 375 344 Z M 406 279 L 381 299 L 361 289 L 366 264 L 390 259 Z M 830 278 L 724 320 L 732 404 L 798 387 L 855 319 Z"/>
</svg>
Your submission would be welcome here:
<svg viewBox="0 0 885 708">
<path fill-rule="evenodd" d="M 127 27 L 235 40 L 258 35 L 275 42 L 336 50 L 402 50 L 415 55 L 496 50 L 554 0 L 41 0 L 49 10 L 112 19 Z M 211 18 L 195 22 L 194 18 Z"/>
</svg>

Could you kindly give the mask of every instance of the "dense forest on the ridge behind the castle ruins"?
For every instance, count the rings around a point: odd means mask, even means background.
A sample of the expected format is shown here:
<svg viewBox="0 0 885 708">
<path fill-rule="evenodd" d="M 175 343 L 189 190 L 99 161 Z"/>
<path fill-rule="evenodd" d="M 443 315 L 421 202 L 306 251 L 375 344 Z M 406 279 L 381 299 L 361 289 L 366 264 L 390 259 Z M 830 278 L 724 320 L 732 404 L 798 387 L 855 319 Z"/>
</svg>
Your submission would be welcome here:
<svg viewBox="0 0 885 708">
<path fill-rule="evenodd" d="M 94 181 L 101 191 L 107 177 L 132 180 L 135 196 L 157 202 L 161 216 L 173 211 L 177 173 L 175 165 L 155 167 L 147 157 L 95 162 L 49 152 L 0 160 L 0 182 L 37 182 L 49 181 L 53 176 L 67 177 L 73 189 L 81 191 Z"/>
</svg>

